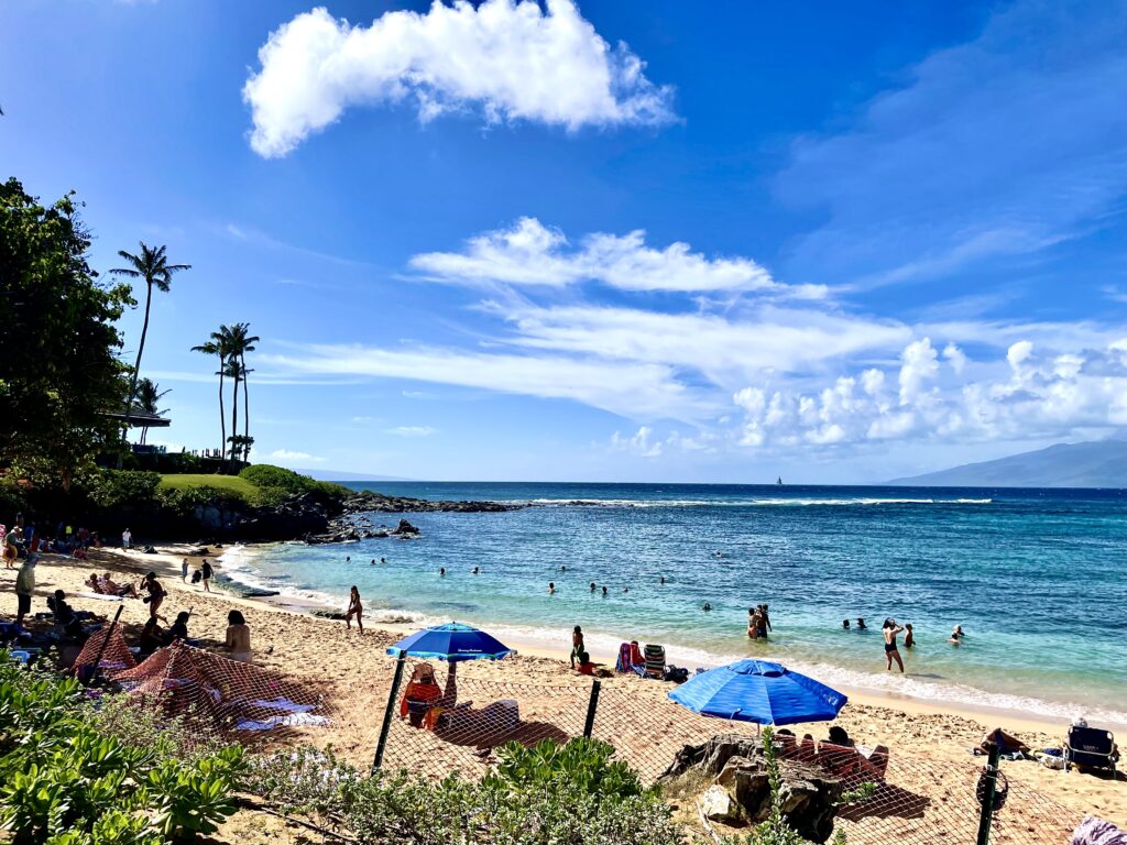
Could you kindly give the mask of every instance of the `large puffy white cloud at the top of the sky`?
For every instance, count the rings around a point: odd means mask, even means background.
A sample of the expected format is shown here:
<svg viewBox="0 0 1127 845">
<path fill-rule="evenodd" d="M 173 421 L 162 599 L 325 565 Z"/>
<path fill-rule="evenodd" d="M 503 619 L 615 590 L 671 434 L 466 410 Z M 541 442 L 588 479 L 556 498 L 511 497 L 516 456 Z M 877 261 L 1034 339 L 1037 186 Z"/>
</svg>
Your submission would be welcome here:
<svg viewBox="0 0 1127 845">
<path fill-rule="evenodd" d="M 261 69 L 242 96 L 251 148 L 285 155 L 349 107 L 411 100 L 419 118 L 476 109 L 488 124 L 583 126 L 673 119 L 672 89 L 611 46 L 571 0 L 435 0 L 424 15 L 389 11 L 370 26 L 323 7 L 298 15 L 258 51 Z"/>
</svg>

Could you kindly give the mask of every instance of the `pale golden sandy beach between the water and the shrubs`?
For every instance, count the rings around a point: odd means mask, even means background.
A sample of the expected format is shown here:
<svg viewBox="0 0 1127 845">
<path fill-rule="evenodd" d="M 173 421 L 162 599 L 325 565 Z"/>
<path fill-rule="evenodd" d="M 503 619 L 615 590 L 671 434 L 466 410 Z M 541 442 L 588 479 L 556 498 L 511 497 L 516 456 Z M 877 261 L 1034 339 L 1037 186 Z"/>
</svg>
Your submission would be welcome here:
<svg viewBox="0 0 1127 845">
<path fill-rule="evenodd" d="M 85 599 L 78 595 L 86 589 L 82 582 L 89 575 L 109 571 L 118 580 L 136 580 L 145 571 L 156 570 L 169 594 L 161 610 L 162 615 L 171 619 L 178 611 L 190 610 L 190 635 L 199 640 L 203 648 L 214 649 L 223 641 L 228 611 L 240 607 L 252 631 L 256 664 L 314 682 L 327 691 L 331 726 L 304 729 L 300 737 L 290 737 L 286 741 L 301 738 L 321 746 L 332 742 L 343 757 L 357 765 L 367 765 L 375 749 L 394 667 L 394 660 L 385 655 L 385 649 L 408 629 L 367 626 L 361 635 L 355 628 L 348 630 L 343 622 L 279 607 L 266 599 L 240 598 L 215 587 L 211 594 L 205 594 L 197 586 L 181 584 L 180 560 L 184 551 L 185 548 L 175 545 L 162 545 L 158 554 L 99 550 L 91 554 L 89 561 L 45 555 L 37 568 L 33 610 L 45 610 L 46 595 L 62 588 L 77 610 L 112 615 L 116 603 Z M 214 551 L 216 554 L 221 552 Z M 193 559 L 193 568 L 196 561 L 198 559 Z M 7 615 L 15 611 L 14 582 L 15 572 L 3 571 L 0 593 L 5 596 Z M 132 599 L 125 599 L 122 606 L 126 639 L 133 641 L 148 617 L 148 607 Z M 556 652 L 542 647 L 529 648 L 526 643 L 508 644 L 516 647 L 521 653 L 496 664 L 464 664 L 459 669 L 462 694 L 476 692 L 478 695 L 515 697 L 522 702 L 522 718 L 539 718 L 547 723 L 559 721 L 566 714 L 567 723 L 561 724 L 564 731 L 569 735 L 580 731 L 591 679 L 568 668 L 567 643 L 561 643 Z M 596 653 L 593 657 L 596 661 L 612 664 L 610 655 Z M 444 667 L 440 667 L 438 671 L 442 677 Z M 673 751 L 681 745 L 701 741 L 709 732 L 720 732 L 729 727 L 672 704 L 666 697 L 672 688 L 669 684 L 637 677 L 609 677 L 603 681 L 603 687 L 604 697 L 595 735 L 607 739 L 621 738 L 624 747 L 620 748 L 620 753 L 627 758 L 637 753 L 638 760 L 651 770 L 671 762 Z M 576 720 L 578 727 L 575 727 Z M 947 789 L 941 775 L 968 773 L 976 763 L 980 763 L 970 756 L 969 749 L 978 744 L 987 729 L 1002 726 L 1031 747 L 1047 748 L 1059 745 L 1066 727 L 1020 713 L 975 712 L 855 693 L 851 694 L 850 703 L 837 723 L 860 745 L 888 746 L 893 760 L 899 760 L 902 765 L 902 777 L 916 781 L 911 784 L 913 791 L 931 795 L 937 801 L 946 800 L 942 794 L 934 794 Z M 443 742 L 429 732 L 421 736 L 424 732 L 411 731 L 403 724 L 397 722 L 389 742 L 388 762 L 392 765 L 432 771 L 435 766 L 469 770 L 483 759 L 473 749 Z M 630 737 L 642 728 L 641 738 L 631 740 Z M 792 728 L 799 736 L 809 731 L 820 739 L 825 737 L 827 726 Z M 744 729 L 754 732 L 752 726 Z M 402 745 L 405 738 L 412 744 L 409 748 Z M 1122 738 L 1120 745 L 1121 741 Z M 615 745 L 620 742 L 615 741 Z M 1121 779 L 1112 781 L 1075 771 L 1054 771 L 1033 762 L 1006 762 L 1003 771 L 1012 783 L 1036 790 L 1066 808 L 1064 815 L 1073 815 L 1073 824 L 1083 815 L 1093 813 L 1127 826 L 1127 782 Z"/>
</svg>

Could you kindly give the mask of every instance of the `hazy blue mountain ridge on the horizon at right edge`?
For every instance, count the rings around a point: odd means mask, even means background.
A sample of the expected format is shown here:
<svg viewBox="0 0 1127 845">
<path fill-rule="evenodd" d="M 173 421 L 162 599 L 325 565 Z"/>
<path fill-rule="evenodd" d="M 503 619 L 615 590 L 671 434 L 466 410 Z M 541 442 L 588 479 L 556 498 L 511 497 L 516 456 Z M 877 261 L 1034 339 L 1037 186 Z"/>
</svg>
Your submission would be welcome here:
<svg viewBox="0 0 1127 845">
<path fill-rule="evenodd" d="M 1127 488 L 1127 442 L 1058 443 L 983 463 L 888 482 L 904 487 Z"/>
</svg>

